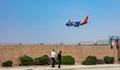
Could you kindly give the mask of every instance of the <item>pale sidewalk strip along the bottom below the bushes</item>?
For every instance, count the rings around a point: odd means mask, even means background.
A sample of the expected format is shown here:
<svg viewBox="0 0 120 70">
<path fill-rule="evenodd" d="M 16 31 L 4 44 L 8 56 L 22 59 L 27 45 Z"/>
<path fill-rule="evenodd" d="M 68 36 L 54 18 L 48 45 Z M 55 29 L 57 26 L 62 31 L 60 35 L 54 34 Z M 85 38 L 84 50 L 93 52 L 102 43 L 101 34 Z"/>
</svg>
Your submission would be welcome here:
<svg viewBox="0 0 120 70">
<path fill-rule="evenodd" d="M 120 70 L 120 64 L 0 67 L 0 70 Z"/>
</svg>

